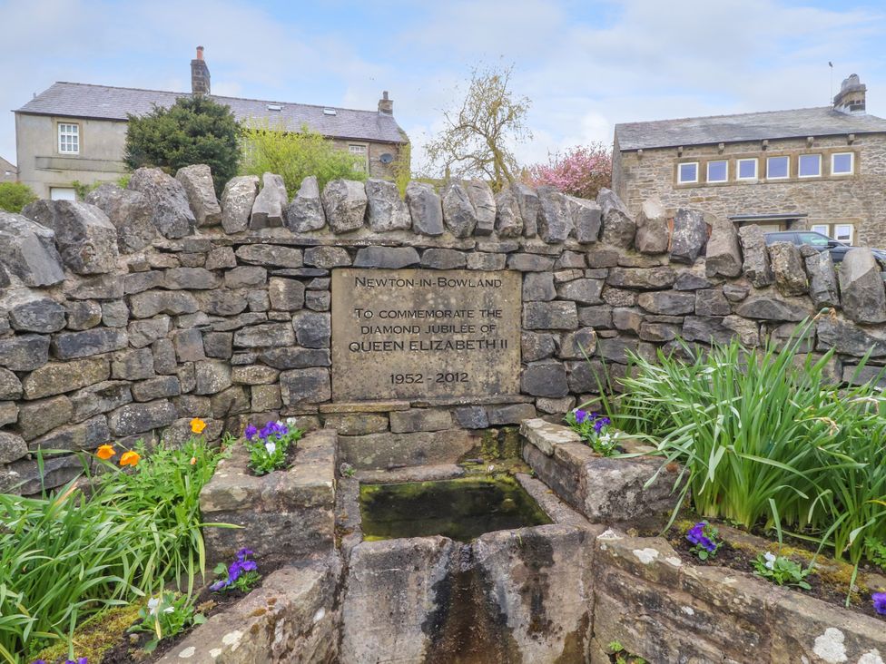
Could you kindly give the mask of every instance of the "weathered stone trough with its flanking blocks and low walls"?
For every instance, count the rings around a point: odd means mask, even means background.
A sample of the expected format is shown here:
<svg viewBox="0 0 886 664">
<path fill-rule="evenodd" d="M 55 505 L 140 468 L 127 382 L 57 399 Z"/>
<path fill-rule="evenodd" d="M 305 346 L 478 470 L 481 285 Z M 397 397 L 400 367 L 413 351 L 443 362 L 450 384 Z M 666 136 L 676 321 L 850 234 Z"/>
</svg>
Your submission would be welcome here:
<svg viewBox="0 0 886 664">
<path fill-rule="evenodd" d="M 660 461 L 641 445 L 625 441 L 636 455 L 607 459 L 560 425 L 528 420 L 521 431 L 535 476 L 516 481 L 550 523 L 467 542 L 364 536 L 360 510 L 361 485 L 465 477 L 464 466 L 361 470 L 330 487 L 330 430 L 306 436 L 304 465 L 278 478 L 257 482 L 234 456 L 204 507 L 218 507 L 217 520 L 251 504 L 259 518 L 209 538 L 211 555 L 249 542 L 284 566 L 159 661 L 606 664 L 618 641 L 649 662 L 882 663 L 881 620 L 750 572 L 686 564 L 664 539 L 636 536 L 673 507 L 678 468 L 646 486 Z M 316 526 L 332 513 L 334 540 Z M 299 532 L 321 544 L 304 547 Z"/>
</svg>

